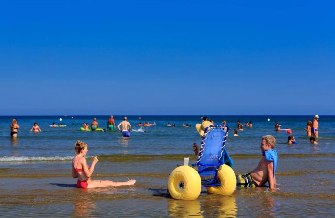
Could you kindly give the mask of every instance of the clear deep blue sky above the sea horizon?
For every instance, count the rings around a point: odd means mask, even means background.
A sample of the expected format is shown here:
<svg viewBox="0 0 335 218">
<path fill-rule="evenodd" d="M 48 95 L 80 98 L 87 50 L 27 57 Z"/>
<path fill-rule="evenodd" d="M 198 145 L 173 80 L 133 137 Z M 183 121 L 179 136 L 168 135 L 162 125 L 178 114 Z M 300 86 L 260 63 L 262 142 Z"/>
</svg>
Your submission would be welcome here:
<svg viewBox="0 0 335 218">
<path fill-rule="evenodd" d="M 334 115 L 334 6 L 3 1 L 0 115 Z"/>
</svg>

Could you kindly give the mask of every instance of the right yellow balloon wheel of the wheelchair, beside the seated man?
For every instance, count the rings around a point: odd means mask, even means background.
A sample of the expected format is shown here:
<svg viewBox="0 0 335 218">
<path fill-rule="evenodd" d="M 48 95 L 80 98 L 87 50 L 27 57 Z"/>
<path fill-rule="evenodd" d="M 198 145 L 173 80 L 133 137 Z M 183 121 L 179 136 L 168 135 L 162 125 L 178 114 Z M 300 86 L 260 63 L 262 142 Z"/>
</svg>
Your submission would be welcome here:
<svg viewBox="0 0 335 218">
<path fill-rule="evenodd" d="M 206 187 L 207 191 L 212 194 L 231 195 L 236 188 L 236 176 L 233 169 L 223 164 L 222 168 L 218 170 L 217 180 L 221 186 Z"/>
</svg>

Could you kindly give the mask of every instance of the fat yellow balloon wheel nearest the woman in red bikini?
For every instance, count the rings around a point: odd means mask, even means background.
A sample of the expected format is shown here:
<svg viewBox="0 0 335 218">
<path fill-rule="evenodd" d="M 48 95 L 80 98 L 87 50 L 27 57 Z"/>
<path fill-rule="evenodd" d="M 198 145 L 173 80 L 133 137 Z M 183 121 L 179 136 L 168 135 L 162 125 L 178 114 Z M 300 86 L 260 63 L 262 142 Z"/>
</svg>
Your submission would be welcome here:
<svg viewBox="0 0 335 218">
<path fill-rule="evenodd" d="M 168 191 L 174 199 L 197 199 L 201 191 L 199 173 L 190 166 L 177 167 L 168 178 Z"/>
</svg>

